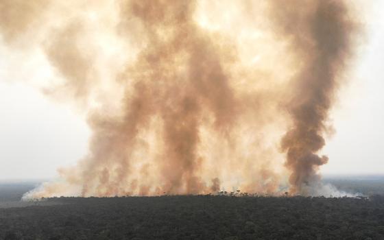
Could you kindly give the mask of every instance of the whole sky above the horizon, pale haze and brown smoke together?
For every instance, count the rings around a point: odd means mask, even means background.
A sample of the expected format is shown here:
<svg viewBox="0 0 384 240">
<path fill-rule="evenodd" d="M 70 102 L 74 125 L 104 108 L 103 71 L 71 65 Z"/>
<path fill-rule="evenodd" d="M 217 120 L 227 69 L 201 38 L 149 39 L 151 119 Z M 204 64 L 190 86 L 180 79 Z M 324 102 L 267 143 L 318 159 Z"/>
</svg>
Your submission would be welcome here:
<svg viewBox="0 0 384 240">
<path fill-rule="evenodd" d="M 28 12 L 0 17 L 1 179 L 147 195 L 384 173 L 383 1 L 122 2 L 0 0 Z"/>
</svg>

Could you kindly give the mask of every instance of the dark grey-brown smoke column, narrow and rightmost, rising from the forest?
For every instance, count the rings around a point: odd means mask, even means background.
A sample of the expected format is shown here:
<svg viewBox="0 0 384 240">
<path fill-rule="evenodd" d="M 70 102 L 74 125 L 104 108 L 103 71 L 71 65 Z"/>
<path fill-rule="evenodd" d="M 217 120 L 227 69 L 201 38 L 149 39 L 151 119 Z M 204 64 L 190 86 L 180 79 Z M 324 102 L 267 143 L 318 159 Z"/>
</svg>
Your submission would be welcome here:
<svg viewBox="0 0 384 240">
<path fill-rule="evenodd" d="M 287 103 L 293 124 L 281 142 L 287 152 L 285 165 L 291 170 L 290 192 L 311 195 L 320 187 L 317 169 L 328 161 L 317 152 L 325 145 L 325 124 L 340 84 L 339 74 L 351 55 L 355 24 L 344 1 L 274 4 L 278 34 L 290 41 L 291 51 L 298 56 Z"/>
</svg>

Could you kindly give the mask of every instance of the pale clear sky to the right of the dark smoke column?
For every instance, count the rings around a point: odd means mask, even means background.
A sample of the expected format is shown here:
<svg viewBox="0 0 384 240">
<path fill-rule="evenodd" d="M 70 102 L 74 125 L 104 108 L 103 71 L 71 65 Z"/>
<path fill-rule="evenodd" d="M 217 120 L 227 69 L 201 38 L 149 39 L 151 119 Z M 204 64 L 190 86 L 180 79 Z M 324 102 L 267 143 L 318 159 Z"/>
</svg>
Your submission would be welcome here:
<svg viewBox="0 0 384 240">
<path fill-rule="evenodd" d="M 384 2 L 366 3 L 365 40 L 331 116 L 336 133 L 323 151 L 330 158 L 323 173 L 384 173 Z"/>
</svg>

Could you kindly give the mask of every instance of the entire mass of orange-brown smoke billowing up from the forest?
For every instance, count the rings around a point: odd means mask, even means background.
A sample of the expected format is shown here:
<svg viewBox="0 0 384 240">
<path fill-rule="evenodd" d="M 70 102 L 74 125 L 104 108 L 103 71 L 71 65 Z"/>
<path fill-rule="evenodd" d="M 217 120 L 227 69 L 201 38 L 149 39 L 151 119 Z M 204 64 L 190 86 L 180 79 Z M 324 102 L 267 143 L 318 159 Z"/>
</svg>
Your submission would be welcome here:
<svg viewBox="0 0 384 240">
<path fill-rule="evenodd" d="M 27 197 L 278 194 L 287 171 L 291 193 L 318 194 L 354 24 L 342 1 L 281 4 L 0 0 L 3 43 L 43 53 L 44 93 L 93 131 L 89 154 Z"/>
</svg>

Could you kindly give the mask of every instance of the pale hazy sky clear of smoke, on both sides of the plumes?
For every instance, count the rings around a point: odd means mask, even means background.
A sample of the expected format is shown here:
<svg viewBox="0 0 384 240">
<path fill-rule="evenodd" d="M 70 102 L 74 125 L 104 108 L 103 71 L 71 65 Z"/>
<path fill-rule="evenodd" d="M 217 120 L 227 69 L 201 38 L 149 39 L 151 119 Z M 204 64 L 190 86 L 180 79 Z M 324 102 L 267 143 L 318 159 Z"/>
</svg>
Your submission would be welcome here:
<svg viewBox="0 0 384 240">
<path fill-rule="evenodd" d="M 331 115 L 336 133 L 323 151 L 330 158 L 323 173 L 384 173 L 384 1 L 369 3 L 365 46 Z M 9 52 L 0 46 L 0 179 L 52 178 L 86 154 L 85 117 L 31 84 L 10 82 Z"/>
</svg>

